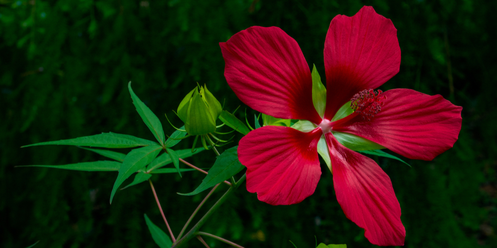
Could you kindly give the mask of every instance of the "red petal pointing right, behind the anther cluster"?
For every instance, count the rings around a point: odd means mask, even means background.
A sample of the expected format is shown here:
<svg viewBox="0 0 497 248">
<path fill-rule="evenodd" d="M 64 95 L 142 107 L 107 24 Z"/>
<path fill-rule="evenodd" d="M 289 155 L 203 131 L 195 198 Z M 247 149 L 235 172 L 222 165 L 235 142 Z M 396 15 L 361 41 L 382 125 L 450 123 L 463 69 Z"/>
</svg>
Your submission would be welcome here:
<svg viewBox="0 0 497 248">
<path fill-rule="evenodd" d="M 371 121 L 358 116 L 333 130 L 369 139 L 410 159 L 432 160 L 454 145 L 461 130 L 462 107 L 440 95 L 410 89 L 383 94 L 387 97 L 384 106 Z"/>
</svg>

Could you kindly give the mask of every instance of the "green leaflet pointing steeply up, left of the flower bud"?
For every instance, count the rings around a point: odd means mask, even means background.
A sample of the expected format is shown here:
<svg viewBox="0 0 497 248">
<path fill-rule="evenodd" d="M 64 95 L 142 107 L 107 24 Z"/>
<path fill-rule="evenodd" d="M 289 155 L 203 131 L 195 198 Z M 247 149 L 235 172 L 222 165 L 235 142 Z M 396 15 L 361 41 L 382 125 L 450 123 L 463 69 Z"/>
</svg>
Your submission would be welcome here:
<svg viewBox="0 0 497 248">
<path fill-rule="evenodd" d="M 154 134 L 157 141 L 161 145 L 164 144 L 164 130 L 162 129 L 161 121 L 157 118 L 156 115 L 145 105 L 138 96 L 135 95 L 135 92 L 131 89 L 131 82 L 128 83 L 129 93 L 131 94 L 131 99 L 133 99 L 133 104 L 136 107 L 136 111 L 142 118 L 143 122 L 149 127 L 150 131 Z"/>
</svg>

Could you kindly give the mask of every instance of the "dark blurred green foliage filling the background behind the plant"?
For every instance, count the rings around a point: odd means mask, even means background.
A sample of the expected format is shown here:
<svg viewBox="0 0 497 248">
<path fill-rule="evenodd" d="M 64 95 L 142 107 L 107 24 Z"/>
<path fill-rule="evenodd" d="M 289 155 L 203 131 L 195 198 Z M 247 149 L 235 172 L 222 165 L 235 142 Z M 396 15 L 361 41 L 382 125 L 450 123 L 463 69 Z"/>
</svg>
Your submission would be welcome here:
<svg viewBox="0 0 497 248">
<path fill-rule="evenodd" d="M 406 247 L 497 247 L 492 0 L 0 0 L 0 246 L 22 248 L 40 240 L 36 247 L 156 247 L 143 214 L 166 227 L 148 184 L 118 192 L 109 205 L 117 173 L 14 168 L 102 159 L 98 155 L 77 147 L 19 147 L 108 131 L 154 140 L 131 103 L 130 80 L 166 133 L 173 129 L 164 114 L 174 116 L 195 82 L 226 99 L 228 111 L 242 105 L 238 115 L 244 118 L 246 106 L 223 76 L 219 42 L 253 25 L 281 27 L 325 79 L 331 19 L 351 16 L 363 5 L 398 29 L 401 69 L 381 89 L 441 94 L 463 106 L 459 140 L 433 161 L 407 159 L 409 168 L 375 158 L 400 201 Z M 209 167 L 213 155 L 207 151 L 188 160 Z M 192 191 L 202 178 L 196 172 L 152 178 L 176 235 L 207 193 L 176 192 Z M 344 216 L 326 166 L 316 192 L 302 203 L 270 206 L 242 186 L 202 231 L 245 247 L 288 248 L 291 240 L 308 248 L 314 236 L 318 243 L 373 246 Z M 205 239 L 212 248 L 227 247 Z M 196 240 L 188 245 L 202 246 Z"/>
</svg>

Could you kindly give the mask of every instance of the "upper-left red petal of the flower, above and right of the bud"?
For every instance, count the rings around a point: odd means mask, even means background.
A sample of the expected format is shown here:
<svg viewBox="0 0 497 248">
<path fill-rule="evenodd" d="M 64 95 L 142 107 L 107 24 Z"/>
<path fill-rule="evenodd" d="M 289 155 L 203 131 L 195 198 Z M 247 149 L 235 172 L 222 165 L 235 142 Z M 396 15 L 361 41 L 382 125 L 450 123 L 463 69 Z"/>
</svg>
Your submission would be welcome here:
<svg viewBox="0 0 497 248">
<path fill-rule="evenodd" d="M 299 44 L 277 27 L 250 27 L 219 43 L 224 75 L 248 107 L 283 119 L 321 123 L 311 70 Z"/>
</svg>

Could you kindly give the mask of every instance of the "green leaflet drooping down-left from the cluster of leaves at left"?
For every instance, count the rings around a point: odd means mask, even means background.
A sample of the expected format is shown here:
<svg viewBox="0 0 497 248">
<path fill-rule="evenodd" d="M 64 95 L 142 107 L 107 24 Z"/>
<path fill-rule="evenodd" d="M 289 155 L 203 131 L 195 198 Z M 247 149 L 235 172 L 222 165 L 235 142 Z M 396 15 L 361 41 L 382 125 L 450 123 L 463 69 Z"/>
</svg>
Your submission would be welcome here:
<svg viewBox="0 0 497 248">
<path fill-rule="evenodd" d="M 117 175 L 116 182 L 112 188 L 112 193 L 110 194 L 110 203 L 112 203 L 112 198 L 121 184 L 129 178 L 133 173 L 142 169 L 144 166 L 152 162 L 162 147 L 158 145 L 145 146 L 142 148 L 131 150 L 131 152 L 126 155 L 124 162 L 119 169 L 119 175 Z"/>
</svg>

